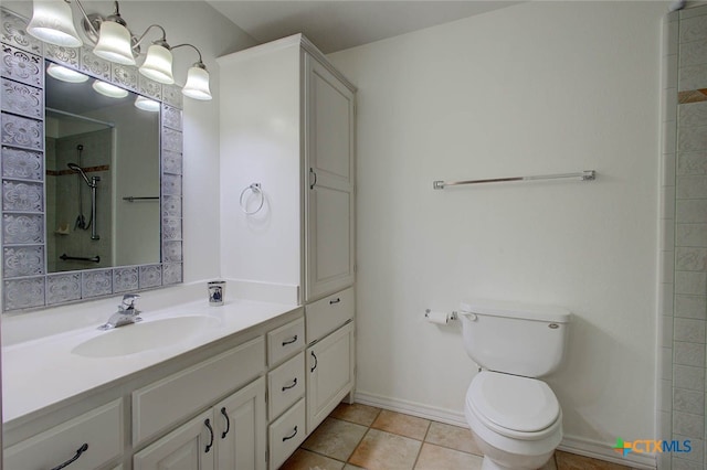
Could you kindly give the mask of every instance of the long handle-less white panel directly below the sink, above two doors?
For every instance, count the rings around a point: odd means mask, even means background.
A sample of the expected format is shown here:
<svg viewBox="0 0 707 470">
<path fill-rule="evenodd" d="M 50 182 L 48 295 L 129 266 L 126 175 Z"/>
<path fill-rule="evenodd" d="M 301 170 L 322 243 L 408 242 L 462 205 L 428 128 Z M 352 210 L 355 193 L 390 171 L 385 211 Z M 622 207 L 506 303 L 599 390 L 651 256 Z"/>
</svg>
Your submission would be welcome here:
<svg viewBox="0 0 707 470">
<path fill-rule="evenodd" d="M 133 392 L 133 444 L 162 434 L 265 371 L 258 337 L 208 361 Z"/>
</svg>

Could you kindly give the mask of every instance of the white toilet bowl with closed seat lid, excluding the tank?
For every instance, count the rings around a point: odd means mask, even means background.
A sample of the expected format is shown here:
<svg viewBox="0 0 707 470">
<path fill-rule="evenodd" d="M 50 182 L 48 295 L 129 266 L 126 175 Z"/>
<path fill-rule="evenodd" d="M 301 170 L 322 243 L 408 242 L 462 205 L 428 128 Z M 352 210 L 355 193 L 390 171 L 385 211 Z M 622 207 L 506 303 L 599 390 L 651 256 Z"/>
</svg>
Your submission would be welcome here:
<svg viewBox="0 0 707 470">
<path fill-rule="evenodd" d="M 464 407 L 483 470 L 535 470 L 562 440 L 562 410 L 541 381 L 483 371 L 469 385 Z"/>
</svg>

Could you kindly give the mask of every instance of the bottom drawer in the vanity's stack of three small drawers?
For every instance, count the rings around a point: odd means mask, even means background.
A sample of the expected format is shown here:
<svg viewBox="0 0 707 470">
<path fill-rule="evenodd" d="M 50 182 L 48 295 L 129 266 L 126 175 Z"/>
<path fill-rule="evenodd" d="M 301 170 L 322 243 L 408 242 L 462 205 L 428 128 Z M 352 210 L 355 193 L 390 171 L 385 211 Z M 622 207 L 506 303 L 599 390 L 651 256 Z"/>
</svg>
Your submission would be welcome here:
<svg viewBox="0 0 707 470">
<path fill-rule="evenodd" d="M 268 468 L 271 470 L 279 468 L 305 440 L 305 399 L 302 398 L 270 425 L 267 437 L 270 438 Z"/>
</svg>

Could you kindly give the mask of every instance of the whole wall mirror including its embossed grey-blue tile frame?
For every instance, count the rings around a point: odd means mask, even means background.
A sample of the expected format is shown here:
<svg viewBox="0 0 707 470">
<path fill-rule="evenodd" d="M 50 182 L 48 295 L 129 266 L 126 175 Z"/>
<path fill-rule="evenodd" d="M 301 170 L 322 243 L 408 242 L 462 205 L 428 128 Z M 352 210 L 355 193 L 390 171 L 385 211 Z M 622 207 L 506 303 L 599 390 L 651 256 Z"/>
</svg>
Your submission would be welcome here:
<svg viewBox="0 0 707 470">
<path fill-rule="evenodd" d="M 181 282 L 181 89 L 43 44 L 0 13 L 2 311 Z M 45 76 L 45 62 L 85 86 Z M 96 79 L 125 97 L 98 96 Z M 140 97 L 159 113 L 137 109 Z"/>
</svg>

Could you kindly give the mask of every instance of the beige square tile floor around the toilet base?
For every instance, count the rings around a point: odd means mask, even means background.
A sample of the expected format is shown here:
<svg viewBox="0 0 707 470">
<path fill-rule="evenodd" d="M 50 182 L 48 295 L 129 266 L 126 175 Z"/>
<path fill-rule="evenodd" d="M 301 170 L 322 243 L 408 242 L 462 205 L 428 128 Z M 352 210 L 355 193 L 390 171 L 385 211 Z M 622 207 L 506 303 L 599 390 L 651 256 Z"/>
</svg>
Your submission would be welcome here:
<svg viewBox="0 0 707 470">
<path fill-rule="evenodd" d="M 466 428 L 340 404 L 281 470 L 478 470 L 482 457 Z M 557 451 L 542 470 L 629 470 Z"/>
</svg>

